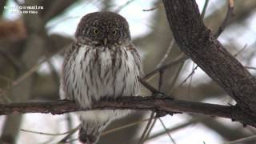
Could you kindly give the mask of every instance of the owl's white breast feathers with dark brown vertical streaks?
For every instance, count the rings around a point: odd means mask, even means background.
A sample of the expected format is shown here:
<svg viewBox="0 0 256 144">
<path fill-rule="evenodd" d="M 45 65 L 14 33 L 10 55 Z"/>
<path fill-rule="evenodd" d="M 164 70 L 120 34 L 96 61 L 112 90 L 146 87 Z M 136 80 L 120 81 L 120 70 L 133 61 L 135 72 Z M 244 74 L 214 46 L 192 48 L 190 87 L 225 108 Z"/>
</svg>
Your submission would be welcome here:
<svg viewBox="0 0 256 144">
<path fill-rule="evenodd" d="M 82 106 L 100 98 L 138 94 L 139 70 L 133 54 L 125 48 L 110 50 L 80 47 L 70 58 L 70 91 Z"/>
</svg>

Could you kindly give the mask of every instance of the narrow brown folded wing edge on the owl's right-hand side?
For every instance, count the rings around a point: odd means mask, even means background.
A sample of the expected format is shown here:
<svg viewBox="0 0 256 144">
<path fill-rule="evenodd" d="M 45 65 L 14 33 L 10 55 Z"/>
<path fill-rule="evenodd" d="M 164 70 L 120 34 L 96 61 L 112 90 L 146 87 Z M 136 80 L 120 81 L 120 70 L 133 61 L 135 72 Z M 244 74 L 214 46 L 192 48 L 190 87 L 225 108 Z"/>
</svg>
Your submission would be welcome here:
<svg viewBox="0 0 256 144">
<path fill-rule="evenodd" d="M 141 57 L 138 54 L 138 51 L 136 50 L 136 47 L 134 46 L 134 44 L 130 44 L 128 46 L 128 50 L 130 50 L 131 54 L 134 55 L 134 61 L 135 64 L 138 67 L 139 70 L 139 76 L 142 78 L 144 75 L 143 69 L 142 69 L 142 61 L 141 61 Z"/>
</svg>

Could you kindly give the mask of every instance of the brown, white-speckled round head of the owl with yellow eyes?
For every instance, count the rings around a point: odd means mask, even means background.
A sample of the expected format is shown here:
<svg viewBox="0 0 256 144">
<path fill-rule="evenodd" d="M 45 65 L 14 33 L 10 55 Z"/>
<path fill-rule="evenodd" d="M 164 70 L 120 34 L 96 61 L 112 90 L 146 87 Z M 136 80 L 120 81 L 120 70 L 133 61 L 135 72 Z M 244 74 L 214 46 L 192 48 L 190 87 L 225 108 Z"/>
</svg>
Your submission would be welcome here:
<svg viewBox="0 0 256 144">
<path fill-rule="evenodd" d="M 126 18 L 112 12 L 86 14 L 75 32 L 78 42 L 93 46 L 113 46 L 130 42 Z"/>
</svg>

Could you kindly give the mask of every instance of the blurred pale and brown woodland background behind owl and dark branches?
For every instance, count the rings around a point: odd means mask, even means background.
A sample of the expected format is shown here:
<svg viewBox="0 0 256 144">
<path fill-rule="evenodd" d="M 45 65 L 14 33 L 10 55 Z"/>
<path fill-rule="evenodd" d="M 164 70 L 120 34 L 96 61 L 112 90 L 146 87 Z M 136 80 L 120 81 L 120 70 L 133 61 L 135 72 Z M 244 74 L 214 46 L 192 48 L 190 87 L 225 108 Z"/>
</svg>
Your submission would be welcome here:
<svg viewBox="0 0 256 144">
<path fill-rule="evenodd" d="M 204 22 L 215 33 L 226 16 L 227 2 L 197 2 L 201 12 L 206 7 Z M 34 14 L 24 14 L 26 10 L 24 12 L 23 6 L 34 6 L 31 10 Z M 182 57 L 166 21 L 162 1 L 159 0 L 1 0 L 0 102 L 58 100 L 62 51 L 74 41 L 74 31 L 80 18 L 99 10 L 114 11 L 127 19 L 133 42 L 142 55 L 145 74 Z M 247 66 L 251 74 L 256 74 L 255 0 L 235 1 L 234 15 L 218 40 Z M 148 79 L 148 82 L 176 99 L 235 104 L 189 59 L 171 66 L 162 74 L 162 79 L 162 86 L 158 86 L 159 74 Z M 142 95 L 150 95 L 150 91 L 144 88 Z M 147 126 L 150 115 L 153 115 L 150 111 L 136 112 L 112 122 L 98 143 L 216 144 L 256 134 L 255 128 L 243 127 L 230 119 L 194 114 L 154 118 Z M 58 143 L 67 138 L 66 135 L 74 131 L 78 124 L 75 114 L 0 116 L 0 143 Z M 78 143 L 77 132 L 68 138 L 66 143 Z"/>
</svg>

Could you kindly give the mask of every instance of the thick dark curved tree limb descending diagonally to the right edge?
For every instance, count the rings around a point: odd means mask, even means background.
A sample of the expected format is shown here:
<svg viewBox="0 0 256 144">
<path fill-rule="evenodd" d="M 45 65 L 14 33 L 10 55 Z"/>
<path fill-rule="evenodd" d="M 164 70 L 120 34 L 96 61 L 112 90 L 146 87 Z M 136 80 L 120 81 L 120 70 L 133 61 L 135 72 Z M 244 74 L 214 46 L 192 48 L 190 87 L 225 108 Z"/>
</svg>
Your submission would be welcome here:
<svg viewBox="0 0 256 144">
<path fill-rule="evenodd" d="M 181 50 L 237 102 L 243 116 L 256 124 L 256 78 L 206 28 L 194 0 L 162 0 Z"/>
</svg>

